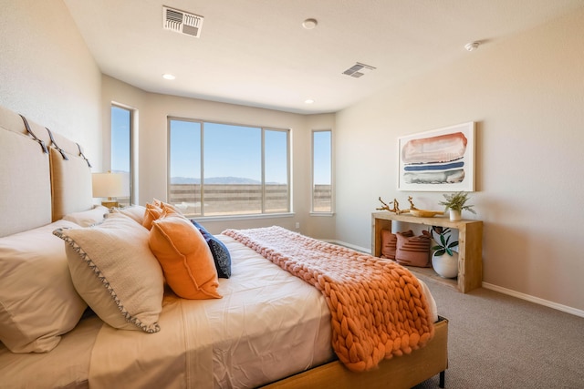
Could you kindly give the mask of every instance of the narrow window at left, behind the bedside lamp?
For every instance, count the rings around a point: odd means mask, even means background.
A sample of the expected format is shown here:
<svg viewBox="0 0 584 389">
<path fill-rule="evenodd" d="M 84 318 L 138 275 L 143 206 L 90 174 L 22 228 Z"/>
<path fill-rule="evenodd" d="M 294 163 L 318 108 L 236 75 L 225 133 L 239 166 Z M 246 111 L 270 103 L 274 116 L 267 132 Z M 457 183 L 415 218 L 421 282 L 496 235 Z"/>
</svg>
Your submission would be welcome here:
<svg viewBox="0 0 584 389">
<path fill-rule="evenodd" d="M 132 203 L 130 190 L 131 182 L 131 138 L 132 138 L 132 110 L 111 106 L 111 160 L 112 173 L 124 174 L 124 186 L 128 188 L 129 197 L 117 198 L 120 206 Z"/>
</svg>

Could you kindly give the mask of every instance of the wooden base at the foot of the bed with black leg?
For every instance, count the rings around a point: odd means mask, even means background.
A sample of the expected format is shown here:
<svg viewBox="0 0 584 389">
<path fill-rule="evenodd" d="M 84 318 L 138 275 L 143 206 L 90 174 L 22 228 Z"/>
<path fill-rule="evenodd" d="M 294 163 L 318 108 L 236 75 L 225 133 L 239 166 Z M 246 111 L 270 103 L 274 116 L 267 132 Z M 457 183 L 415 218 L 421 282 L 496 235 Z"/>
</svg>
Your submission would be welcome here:
<svg viewBox="0 0 584 389">
<path fill-rule="evenodd" d="M 433 340 L 425 347 L 410 355 L 381 361 L 379 369 L 354 373 L 339 361 L 334 361 L 268 384 L 264 388 L 411 388 L 436 374 L 443 374 L 448 367 L 448 320 L 441 317 L 434 325 Z M 442 375 L 441 387 L 443 378 Z"/>
</svg>

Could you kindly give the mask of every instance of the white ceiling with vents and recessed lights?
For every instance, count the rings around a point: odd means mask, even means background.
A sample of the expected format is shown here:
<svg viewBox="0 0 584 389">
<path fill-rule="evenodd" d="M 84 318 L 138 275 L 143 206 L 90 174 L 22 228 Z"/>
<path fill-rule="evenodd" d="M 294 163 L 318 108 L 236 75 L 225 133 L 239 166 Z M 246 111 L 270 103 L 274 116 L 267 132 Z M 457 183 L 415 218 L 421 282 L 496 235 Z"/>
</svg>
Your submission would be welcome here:
<svg viewBox="0 0 584 389">
<path fill-rule="evenodd" d="M 335 112 L 584 6 L 584 0 L 64 0 L 102 73 L 149 92 Z M 162 5 L 204 17 L 162 28 Z M 312 30 L 302 27 L 316 18 Z M 479 50 L 481 47 L 479 47 Z M 361 62 L 377 69 L 342 75 Z M 162 79 L 163 73 L 176 76 Z M 305 104 L 307 98 L 315 103 Z"/>
</svg>

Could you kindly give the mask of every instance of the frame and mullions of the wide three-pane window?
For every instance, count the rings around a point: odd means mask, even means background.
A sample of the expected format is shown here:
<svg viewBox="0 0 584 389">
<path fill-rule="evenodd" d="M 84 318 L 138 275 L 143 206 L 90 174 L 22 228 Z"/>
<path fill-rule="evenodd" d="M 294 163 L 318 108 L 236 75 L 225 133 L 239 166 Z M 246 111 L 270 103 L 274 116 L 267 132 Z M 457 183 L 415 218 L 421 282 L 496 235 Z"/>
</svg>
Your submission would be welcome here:
<svg viewBox="0 0 584 389">
<path fill-rule="evenodd" d="M 185 121 L 185 122 L 192 122 L 198 123 L 201 126 L 201 134 L 200 134 L 200 144 L 201 144 L 201 152 L 200 152 L 200 176 L 201 176 L 201 214 L 194 214 L 193 217 L 196 217 L 200 220 L 234 220 L 234 219 L 257 219 L 257 218 L 273 218 L 273 217 L 282 217 L 282 216 L 292 216 L 292 182 L 291 182 L 291 128 L 276 128 L 272 126 L 261 126 L 261 125 L 250 125 L 250 124 L 241 124 L 241 123 L 234 123 L 234 122 L 226 122 L 226 121 L 218 121 L 218 120 L 205 120 L 201 118 L 183 118 L 183 117 L 176 117 L 176 116 L 168 116 L 167 117 L 167 199 L 171 199 L 171 188 L 172 188 L 172 174 L 171 174 L 171 143 L 172 143 L 172 128 L 171 124 L 172 121 Z M 204 156 L 205 156 L 205 148 L 204 148 L 204 136 L 205 136 L 205 124 L 213 124 L 213 125 L 221 125 L 221 126 L 234 126 L 234 127 L 242 127 L 242 128 L 258 128 L 261 132 L 261 145 L 260 145 L 260 152 L 261 152 L 261 211 L 259 213 L 234 213 L 234 214 L 224 214 L 224 215 L 207 215 L 204 212 Z M 283 132 L 286 134 L 286 164 L 287 164 L 287 210 L 285 211 L 266 211 L 266 131 L 276 131 L 276 132 Z M 208 151 L 208 150 L 207 150 Z"/>
</svg>

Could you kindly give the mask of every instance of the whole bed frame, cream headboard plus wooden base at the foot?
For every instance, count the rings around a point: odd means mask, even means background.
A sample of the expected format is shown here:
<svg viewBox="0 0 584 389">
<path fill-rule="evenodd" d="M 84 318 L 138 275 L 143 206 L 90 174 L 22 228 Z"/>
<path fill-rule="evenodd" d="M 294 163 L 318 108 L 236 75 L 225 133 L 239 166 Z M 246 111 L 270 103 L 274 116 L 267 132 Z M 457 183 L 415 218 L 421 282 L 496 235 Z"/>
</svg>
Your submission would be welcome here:
<svg viewBox="0 0 584 389">
<path fill-rule="evenodd" d="M 0 107 L 0 140 L 3 146 L 0 214 L 5 220 L 0 236 L 33 229 L 61 219 L 66 213 L 91 208 L 91 168 L 77 143 L 4 107 Z M 64 154 L 73 161 L 62 163 Z M 435 323 L 433 340 L 425 347 L 382 361 L 373 371 L 353 373 L 339 361 L 333 361 L 265 388 L 410 388 L 436 374 L 440 374 L 443 387 L 448 366 L 447 343 L 448 320 L 440 318 Z"/>
</svg>

